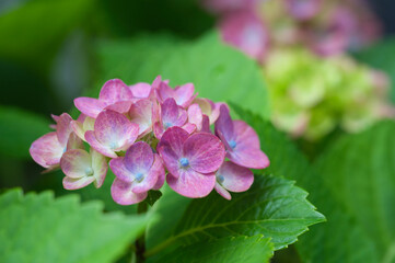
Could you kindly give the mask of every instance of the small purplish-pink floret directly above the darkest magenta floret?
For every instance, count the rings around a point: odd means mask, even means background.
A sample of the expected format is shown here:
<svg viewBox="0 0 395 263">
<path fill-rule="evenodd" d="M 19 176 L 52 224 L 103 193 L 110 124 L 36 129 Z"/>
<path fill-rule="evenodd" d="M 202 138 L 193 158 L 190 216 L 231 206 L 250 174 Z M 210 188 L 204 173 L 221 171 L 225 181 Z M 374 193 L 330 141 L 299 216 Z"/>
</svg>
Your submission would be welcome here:
<svg viewBox="0 0 395 263">
<path fill-rule="evenodd" d="M 169 98 L 161 104 L 160 118 L 153 125 L 153 133 L 158 139 L 161 139 L 167 128 L 177 126 L 185 128 L 190 134 L 195 132 L 196 126 L 189 123 L 186 124 L 187 118 L 187 112 L 178 106 L 174 99 Z"/>
</svg>

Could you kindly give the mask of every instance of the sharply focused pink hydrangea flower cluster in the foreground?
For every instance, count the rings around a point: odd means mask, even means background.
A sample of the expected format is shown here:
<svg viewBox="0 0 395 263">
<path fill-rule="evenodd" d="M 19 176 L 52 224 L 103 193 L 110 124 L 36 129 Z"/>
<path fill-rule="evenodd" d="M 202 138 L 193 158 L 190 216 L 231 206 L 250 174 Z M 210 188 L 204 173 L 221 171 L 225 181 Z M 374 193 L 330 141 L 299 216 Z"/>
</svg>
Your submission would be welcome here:
<svg viewBox="0 0 395 263">
<path fill-rule="evenodd" d="M 30 149 L 47 170 L 60 167 L 67 190 L 101 187 L 109 165 L 116 176 L 112 196 L 120 205 L 143 201 L 165 181 L 190 198 L 216 190 L 231 199 L 229 192 L 252 185 L 249 169 L 269 165 L 254 129 L 233 121 L 225 103 L 197 98 L 191 83 L 172 89 L 161 77 L 133 85 L 114 79 L 98 99 L 74 104 L 80 116 L 54 115 L 55 132 Z"/>
</svg>

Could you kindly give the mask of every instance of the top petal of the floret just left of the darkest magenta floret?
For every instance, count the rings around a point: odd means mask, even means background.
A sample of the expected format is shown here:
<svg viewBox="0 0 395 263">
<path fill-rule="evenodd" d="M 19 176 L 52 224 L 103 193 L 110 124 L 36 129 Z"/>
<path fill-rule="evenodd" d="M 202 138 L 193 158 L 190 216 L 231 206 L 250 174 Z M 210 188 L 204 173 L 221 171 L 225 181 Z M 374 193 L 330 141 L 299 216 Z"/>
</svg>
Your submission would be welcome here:
<svg viewBox="0 0 395 263">
<path fill-rule="evenodd" d="M 130 146 L 126 151 L 124 162 L 125 167 L 133 174 L 147 173 L 153 163 L 153 152 L 151 146 L 139 141 Z"/>
</svg>

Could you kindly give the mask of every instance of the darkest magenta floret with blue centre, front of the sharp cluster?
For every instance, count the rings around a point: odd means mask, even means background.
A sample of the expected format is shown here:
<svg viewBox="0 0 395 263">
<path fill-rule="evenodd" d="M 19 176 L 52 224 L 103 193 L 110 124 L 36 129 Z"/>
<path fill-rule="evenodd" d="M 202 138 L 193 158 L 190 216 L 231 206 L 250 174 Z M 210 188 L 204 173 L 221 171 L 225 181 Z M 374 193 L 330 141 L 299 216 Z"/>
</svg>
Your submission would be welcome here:
<svg viewBox="0 0 395 263">
<path fill-rule="evenodd" d="M 214 135 L 189 135 L 183 128 L 172 127 L 163 134 L 156 149 L 169 171 L 166 181 L 175 192 L 197 198 L 212 191 L 214 172 L 225 156 L 222 142 Z"/>
</svg>

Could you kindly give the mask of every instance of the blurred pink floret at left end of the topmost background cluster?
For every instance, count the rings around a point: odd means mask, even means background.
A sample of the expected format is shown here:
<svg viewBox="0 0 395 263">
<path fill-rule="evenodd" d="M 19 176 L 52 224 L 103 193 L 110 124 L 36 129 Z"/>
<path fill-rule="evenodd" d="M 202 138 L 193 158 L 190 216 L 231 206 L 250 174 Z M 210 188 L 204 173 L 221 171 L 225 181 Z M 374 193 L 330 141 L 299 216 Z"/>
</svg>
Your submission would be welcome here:
<svg viewBox="0 0 395 263">
<path fill-rule="evenodd" d="M 224 15 L 219 27 L 225 43 L 240 48 L 252 58 L 263 60 L 268 46 L 268 33 L 254 12 Z"/>
</svg>

